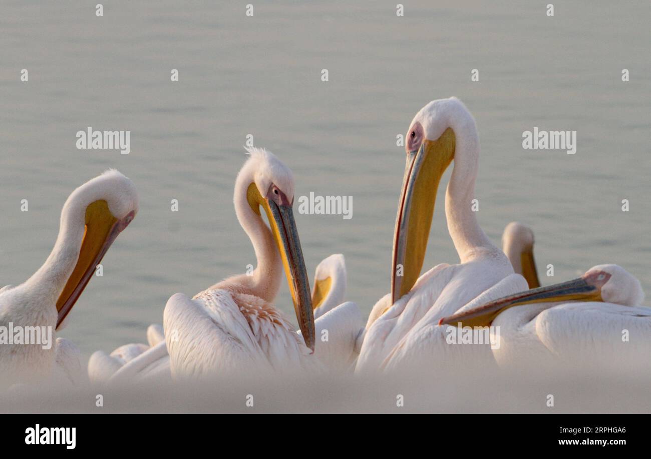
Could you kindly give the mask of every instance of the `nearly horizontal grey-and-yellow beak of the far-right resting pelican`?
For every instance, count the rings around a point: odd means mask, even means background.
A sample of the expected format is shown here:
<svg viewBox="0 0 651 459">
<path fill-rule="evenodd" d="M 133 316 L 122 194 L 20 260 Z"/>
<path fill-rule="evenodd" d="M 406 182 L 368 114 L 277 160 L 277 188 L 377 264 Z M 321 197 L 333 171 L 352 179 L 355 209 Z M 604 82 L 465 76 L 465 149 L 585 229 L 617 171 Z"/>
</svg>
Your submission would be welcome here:
<svg viewBox="0 0 651 459">
<path fill-rule="evenodd" d="M 514 306 L 562 301 L 603 301 L 602 287 L 610 277 L 611 275 L 605 271 L 590 271 L 572 281 L 525 290 L 495 299 L 469 311 L 444 317 L 439 320 L 439 325 L 461 324 L 463 327 L 487 327 L 498 314 Z"/>
</svg>

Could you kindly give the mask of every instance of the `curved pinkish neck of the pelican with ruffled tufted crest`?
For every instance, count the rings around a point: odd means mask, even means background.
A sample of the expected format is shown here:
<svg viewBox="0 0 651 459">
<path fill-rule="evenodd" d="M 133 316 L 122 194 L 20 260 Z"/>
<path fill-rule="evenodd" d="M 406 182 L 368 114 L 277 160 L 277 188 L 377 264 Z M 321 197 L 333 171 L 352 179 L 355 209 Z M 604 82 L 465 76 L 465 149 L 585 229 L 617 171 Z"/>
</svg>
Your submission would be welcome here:
<svg viewBox="0 0 651 459">
<path fill-rule="evenodd" d="M 262 216 L 253 212 L 247 200 L 247 190 L 253 181 L 253 171 L 245 165 L 235 182 L 233 200 L 238 221 L 249 236 L 257 259 L 257 266 L 249 277 L 246 293 L 271 302 L 281 286 L 283 262 L 271 230 L 264 223 Z"/>
</svg>

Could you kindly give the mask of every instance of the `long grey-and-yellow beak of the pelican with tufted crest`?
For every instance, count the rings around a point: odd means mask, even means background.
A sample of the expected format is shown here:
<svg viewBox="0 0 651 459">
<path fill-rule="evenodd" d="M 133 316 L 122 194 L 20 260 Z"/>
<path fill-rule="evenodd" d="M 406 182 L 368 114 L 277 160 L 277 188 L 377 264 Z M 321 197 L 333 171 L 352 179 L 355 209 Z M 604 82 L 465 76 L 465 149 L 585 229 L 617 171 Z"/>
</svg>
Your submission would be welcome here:
<svg viewBox="0 0 651 459">
<path fill-rule="evenodd" d="M 292 206 L 276 204 L 271 199 L 265 199 L 266 208 L 270 215 L 273 236 L 283 258 L 283 266 L 292 300 L 298 326 L 305 340 L 305 346 L 314 351 L 316 331 L 314 329 L 314 313 L 312 313 L 312 298 L 310 297 L 310 282 L 305 269 L 301 242 L 298 238 L 296 221 Z"/>
</svg>

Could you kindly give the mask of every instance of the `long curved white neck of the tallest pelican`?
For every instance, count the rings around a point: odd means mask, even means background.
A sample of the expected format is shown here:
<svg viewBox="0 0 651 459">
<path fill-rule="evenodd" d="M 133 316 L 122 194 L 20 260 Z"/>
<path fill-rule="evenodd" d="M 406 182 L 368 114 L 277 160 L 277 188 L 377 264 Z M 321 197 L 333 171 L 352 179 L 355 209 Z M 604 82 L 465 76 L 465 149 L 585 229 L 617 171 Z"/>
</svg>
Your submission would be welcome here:
<svg viewBox="0 0 651 459">
<path fill-rule="evenodd" d="M 479 160 L 479 138 L 475 120 L 459 109 L 450 117 L 455 135 L 454 168 L 445 193 L 448 230 L 462 263 L 482 249 L 497 250 L 477 223 L 473 212 L 475 178 Z"/>
</svg>

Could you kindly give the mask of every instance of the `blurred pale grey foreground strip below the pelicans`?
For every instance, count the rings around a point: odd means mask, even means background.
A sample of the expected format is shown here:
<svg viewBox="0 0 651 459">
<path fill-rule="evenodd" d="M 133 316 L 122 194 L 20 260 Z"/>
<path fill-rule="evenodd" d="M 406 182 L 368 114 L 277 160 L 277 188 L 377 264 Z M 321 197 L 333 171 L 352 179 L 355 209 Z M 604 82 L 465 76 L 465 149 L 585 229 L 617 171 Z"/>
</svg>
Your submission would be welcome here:
<svg viewBox="0 0 651 459">
<path fill-rule="evenodd" d="M 503 370 L 14 387 L 2 413 L 648 413 L 650 374 Z M 96 406 L 98 395 L 104 406 Z M 251 397 L 253 396 L 253 397 Z M 398 406 L 400 396 L 404 406 Z M 553 396 L 553 406 L 547 406 Z M 251 401 L 253 406 L 247 406 Z"/>
</svg>

